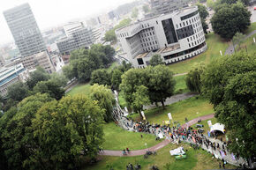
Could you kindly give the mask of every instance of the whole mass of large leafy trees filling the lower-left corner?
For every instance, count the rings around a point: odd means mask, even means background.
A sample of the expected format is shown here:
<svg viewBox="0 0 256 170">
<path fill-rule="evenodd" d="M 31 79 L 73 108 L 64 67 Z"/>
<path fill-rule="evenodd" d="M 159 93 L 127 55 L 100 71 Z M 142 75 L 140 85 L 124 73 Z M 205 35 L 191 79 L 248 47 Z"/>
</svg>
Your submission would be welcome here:
<svg viewBox="0 0 256 170">
<path fill-rule="evenodd" d="M 97 102 L 86 96 L 56 101 L 37 93 L 22 100 L 0 118 L 1 166 L 78 168 L 80 155 L 95 158 L 103 142 L 102 115 Z"/>
</svg>

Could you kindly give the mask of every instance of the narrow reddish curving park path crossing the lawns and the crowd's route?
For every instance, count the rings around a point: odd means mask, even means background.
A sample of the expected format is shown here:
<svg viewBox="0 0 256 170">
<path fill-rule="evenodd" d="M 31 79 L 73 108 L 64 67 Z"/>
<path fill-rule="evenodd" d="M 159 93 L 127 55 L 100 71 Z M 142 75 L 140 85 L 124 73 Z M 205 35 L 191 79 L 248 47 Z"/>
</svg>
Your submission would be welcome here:
<svg viewBox="0 0 256 170">
<path fill-rule="evenodd" d="M 207 119 L 211 119 L 215 116 L 215 114 L 211 114 L 211 115 L 203 115 L 200 116 L 200 118 L 195 118 L 192 119 L 190 122 L 188 123 L 188 126 L 192 126 L 193 124 L 195 124 L 196 122 L 199 121 L 199 119 L 201 121 L 207 120 Z M 182 127 L 186 127 L 186 123 L 182 125 Z M 153 151 L 157 151 L 161 148 L 163 148 L 164 146 L 166 146 L 167 144 L 170 143 L 169 139 L 165 139 L 164 141 L 162 141 L 159 144 L 156 144 L 150 148 L 148 148 L 149 151 L 153 152 Z M 136 150 L 136 151 L 131 151 L 128 155 L 126 155 L 125 157 L 133 157 L 133 156 L 139 156 L 139 155 L 144 155 L 147 152 L 147 149 L 144 150 Z M 100 152 L 100 155 L 106 155 L 106 156 L 124 156 L 122 151 L 111 151 L 111 150 L 104 150 L 103 152 Z"/>
</svg>

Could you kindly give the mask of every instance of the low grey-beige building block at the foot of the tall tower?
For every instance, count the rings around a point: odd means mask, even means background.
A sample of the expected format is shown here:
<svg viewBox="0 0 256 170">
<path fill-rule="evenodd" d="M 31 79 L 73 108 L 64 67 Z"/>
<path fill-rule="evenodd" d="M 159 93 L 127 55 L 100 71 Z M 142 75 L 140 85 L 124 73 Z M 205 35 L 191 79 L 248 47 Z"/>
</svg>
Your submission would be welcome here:
<svg viewBox="0 0 256 170">
<path fill-rule="evenodd" d="M 24 68 L 26 68 L 27 70 L 34 70 L 37 66 L 40 66 L 48 73 L 52 73 L 55 71 L 47 51 L 42 51 L 38 54 L 20 57 L 18 59 L 15 59 L 12 63 L 6 64 L 6 66 L 15 66 L 19 63 L 22 63 Z"/>
</svg>

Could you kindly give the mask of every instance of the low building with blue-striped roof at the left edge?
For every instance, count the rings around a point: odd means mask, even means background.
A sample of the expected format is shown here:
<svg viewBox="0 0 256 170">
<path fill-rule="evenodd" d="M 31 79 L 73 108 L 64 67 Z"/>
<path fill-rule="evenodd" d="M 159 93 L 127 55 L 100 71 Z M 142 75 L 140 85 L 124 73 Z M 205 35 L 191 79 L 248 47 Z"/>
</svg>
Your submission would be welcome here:
<svg viewBox="0 0 256 170">
<path fill-rule="evenodd" d="M 29 77 L 28 70 L 23 67 L 22 63 L 9 68 L 0 69 L 0 94 L 3 98 L 7 95 L 8 87 L 17 82 L 25 82 Z"/>
</svg>

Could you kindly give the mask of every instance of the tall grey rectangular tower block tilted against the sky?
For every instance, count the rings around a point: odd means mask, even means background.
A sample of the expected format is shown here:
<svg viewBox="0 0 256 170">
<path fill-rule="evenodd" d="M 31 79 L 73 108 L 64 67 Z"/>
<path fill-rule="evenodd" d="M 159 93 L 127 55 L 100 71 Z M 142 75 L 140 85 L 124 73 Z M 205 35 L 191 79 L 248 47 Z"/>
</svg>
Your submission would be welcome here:
<svg viewBox="0 0 256 170">
<path fill-rule="evenodd" d="M 46 50 L 29 4 L 21 4 L 4 11 L 4 18 L 19 48 L 20 55 L 34 55 Z"/>
</svg>

